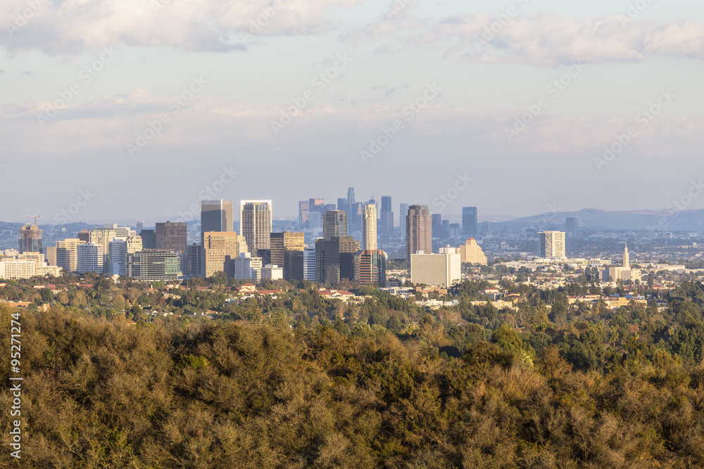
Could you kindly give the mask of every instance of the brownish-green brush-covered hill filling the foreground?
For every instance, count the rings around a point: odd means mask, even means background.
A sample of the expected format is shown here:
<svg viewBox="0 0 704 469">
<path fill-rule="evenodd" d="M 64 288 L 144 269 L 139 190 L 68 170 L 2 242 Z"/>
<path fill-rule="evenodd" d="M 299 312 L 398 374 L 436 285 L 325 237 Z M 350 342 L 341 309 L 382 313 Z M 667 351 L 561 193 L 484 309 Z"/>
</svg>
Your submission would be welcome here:
<svg viewBox="0 0 704 469">
<path fill-rule="evenodd" d="M 11 310 L 0 306 L 8 383 Z M 572 371 L 508 328 L 451 358 L 383 328 L 23 311 L 22 468 L 696 468 L 704 373 Z M 520 349 L 520 347 L 519 347 Z M 642 358 L 642 357 L 641 357 Z"/>
</svg>

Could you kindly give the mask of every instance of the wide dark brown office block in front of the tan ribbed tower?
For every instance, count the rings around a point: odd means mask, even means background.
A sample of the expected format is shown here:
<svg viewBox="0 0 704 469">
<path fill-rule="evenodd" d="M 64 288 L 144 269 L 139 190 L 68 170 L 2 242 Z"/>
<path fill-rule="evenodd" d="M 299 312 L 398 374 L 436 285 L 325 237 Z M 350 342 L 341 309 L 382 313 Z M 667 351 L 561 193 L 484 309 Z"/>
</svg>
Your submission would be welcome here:
<svg viewBox="0 0 704 469">
<path fill-rule="evenodd" d="M 354 255 L 359 241 L 353 236 L 333 236 L 315 240 L 315 281 L 338 283 L 342 278 L 354 279 Z"/>
</svg>

